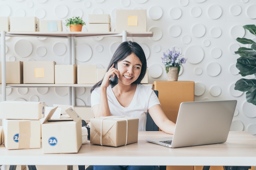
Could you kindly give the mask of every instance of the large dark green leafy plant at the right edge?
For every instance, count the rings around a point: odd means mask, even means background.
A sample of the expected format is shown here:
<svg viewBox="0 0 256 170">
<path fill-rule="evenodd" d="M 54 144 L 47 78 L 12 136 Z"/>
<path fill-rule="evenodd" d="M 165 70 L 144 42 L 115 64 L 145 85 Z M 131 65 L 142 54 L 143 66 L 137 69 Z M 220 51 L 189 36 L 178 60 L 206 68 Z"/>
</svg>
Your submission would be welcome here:
<svg viewBox="0 0 256 170">
<path fill-rule="evenodd" d="M 256 36 L 255 25 L 245 25 L 243 28 Z M 236 62 L 236 68 L 240 71 L 239 74 L 243 77 L 256 74 L 256 42 L 247 38 L 237 38 L 236 40 L 250 46 L 250 48 L 240 47 L 238 51 L 235 51 L 236 54 L 240 55 Z M 235 84 L 235 90 L 247 91 L 247 102 L 256 105 L 256 79 L 239 79 Z"/>
</svg>

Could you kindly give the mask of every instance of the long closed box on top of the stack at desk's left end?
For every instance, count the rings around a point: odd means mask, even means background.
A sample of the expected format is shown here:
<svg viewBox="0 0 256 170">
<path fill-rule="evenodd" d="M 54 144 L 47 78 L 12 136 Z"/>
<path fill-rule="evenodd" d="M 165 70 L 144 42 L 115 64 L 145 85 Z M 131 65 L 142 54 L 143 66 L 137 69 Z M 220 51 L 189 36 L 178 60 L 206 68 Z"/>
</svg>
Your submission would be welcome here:
<svg viewBox="0 0 256 170">
<path fill-rule="evenodd" d="M 39 120 L 45 114 L 45 102 L 3 101 L 0 102 L 3 119 Z"/>
</svg>

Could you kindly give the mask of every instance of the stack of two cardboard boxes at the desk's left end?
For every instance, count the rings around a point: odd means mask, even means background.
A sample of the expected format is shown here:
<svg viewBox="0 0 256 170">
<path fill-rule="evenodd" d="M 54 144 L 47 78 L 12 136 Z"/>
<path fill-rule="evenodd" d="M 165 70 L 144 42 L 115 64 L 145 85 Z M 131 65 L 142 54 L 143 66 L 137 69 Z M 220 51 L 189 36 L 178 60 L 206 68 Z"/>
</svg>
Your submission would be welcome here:
<svg viewBox="0 0 256 170">
<path fill-rule="evenodd" d="M 5 148 L 40 148 L 39 119 L 44 117 L 45 102 L 4 101 L 0 103 L 0 108 Z"/>
</svg>

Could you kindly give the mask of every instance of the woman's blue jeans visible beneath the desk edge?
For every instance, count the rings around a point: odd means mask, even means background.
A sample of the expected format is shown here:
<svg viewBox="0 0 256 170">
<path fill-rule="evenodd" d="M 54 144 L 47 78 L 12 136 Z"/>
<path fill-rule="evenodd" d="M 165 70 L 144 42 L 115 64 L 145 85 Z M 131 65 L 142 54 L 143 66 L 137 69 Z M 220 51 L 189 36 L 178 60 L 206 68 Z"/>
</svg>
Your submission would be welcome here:
<svg viewBox="0 0 256 170">
<path fill-rule="evenodd" d="M 155 170 L 155 166 L 93 166 L 93 170 Z"/>
</svg>

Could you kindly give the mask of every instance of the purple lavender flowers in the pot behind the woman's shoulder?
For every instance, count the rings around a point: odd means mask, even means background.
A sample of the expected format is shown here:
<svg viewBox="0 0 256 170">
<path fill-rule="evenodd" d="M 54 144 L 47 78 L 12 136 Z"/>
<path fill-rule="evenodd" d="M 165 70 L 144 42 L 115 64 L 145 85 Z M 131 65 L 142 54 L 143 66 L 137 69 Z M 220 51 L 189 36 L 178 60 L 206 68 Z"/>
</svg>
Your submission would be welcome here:
<svg viewBox="0 0 256 170">
<path fill-rule="evenodd" d="M 164 57 L 162 57 L 162 63 L 164 64 L 166 68 L 166 73 L 168 73 L 169 67 L 178 67 L 182 64 L 186 63 L 186 58 L 181 57 L 180 51 L 177 51 L 175 48 L 172 48 L 171 50 L 168 49 L 165 53 L 163 53 Z"/>
</svg>

